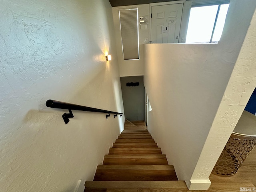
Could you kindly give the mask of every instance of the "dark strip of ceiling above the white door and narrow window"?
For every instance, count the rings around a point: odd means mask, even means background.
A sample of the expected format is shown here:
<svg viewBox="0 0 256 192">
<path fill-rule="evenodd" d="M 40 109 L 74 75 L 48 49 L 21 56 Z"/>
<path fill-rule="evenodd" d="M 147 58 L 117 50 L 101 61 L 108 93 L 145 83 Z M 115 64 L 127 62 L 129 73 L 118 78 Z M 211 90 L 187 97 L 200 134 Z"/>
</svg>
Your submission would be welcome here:
<svg viewBox="0 0 256 192">
<path fill-rule="evenodd" d="M 109 0 L 112 7 L 159 3 L 159 2 L 168 2 L 168 1 L 176 1 L 176 0 Z"/>
</svg>

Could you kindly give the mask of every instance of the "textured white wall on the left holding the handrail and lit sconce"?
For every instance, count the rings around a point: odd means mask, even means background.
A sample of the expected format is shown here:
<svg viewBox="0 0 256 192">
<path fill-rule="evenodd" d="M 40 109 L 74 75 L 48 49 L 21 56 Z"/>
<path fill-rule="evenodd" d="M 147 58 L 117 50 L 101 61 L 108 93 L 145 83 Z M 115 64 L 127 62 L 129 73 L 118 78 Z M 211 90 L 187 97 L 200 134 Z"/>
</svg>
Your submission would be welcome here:
<svg viewBox="0 0 256 192">
<path fill-rule="evenodd" d="M 0 18 L 0 191 L 72 192 L 93 179 L 124 116 L 73 111 L 65 125 L 68 111 L 45 102 L 123 112 L 112 7 L 2 0 Z"/>
</svg>

